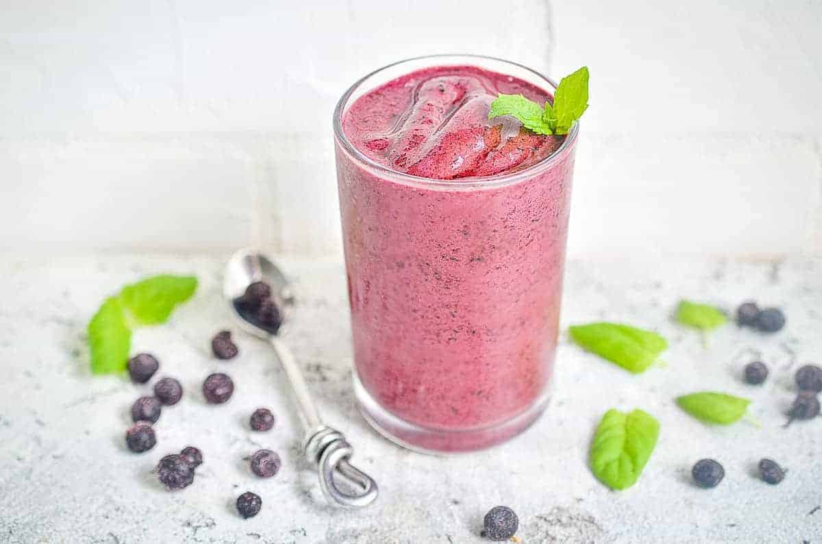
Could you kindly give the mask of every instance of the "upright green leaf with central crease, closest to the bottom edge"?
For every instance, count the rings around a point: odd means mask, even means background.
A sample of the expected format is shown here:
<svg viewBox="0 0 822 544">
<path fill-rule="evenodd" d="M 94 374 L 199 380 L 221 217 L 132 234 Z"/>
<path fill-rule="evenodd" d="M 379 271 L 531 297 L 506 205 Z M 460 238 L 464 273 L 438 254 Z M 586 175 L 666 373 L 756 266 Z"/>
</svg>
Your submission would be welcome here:
<svg viewBox="0 0 822 544">
<path fill-rule="evenodd" d="M 591 443 L 593 475 L 606 486 L 622 490 L 633 486 L 648 463 L 659 438 L 659 422 L 649 413 L 608 410 Z"/>
</svg>

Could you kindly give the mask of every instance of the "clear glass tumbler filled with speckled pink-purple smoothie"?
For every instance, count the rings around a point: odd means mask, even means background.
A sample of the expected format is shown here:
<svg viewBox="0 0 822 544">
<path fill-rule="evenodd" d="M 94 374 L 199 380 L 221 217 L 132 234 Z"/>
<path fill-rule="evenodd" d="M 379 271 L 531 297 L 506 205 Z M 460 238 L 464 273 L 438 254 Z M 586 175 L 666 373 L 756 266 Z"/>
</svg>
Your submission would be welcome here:
<svg viewBox="0 0 822 544">
<path fill-rule="evenodd" d="M 549 81 L 465 60 L 363 81 L 337 112 L 358 401 L 432 451 L 506 440 L 544 408 L 574 164 L 575 130 L 488 120 L 498 94 L 551 102 Z"/>
</svg>

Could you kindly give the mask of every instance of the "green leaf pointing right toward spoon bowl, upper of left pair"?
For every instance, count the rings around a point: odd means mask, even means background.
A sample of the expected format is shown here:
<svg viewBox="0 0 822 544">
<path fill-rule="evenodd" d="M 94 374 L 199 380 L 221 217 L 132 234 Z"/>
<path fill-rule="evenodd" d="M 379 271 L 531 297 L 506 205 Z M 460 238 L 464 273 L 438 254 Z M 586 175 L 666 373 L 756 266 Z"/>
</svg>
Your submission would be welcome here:
<svg viewBox="0 0 822 544">
<path fill-rule="evenodd" d="M 197 288 L 194 276 L 161 274 L 122 288 L 122 302 L 132 316 L 144 325 L 156 325 L 169 319 L 180 302 L 186 302 Z"/>
</svg>

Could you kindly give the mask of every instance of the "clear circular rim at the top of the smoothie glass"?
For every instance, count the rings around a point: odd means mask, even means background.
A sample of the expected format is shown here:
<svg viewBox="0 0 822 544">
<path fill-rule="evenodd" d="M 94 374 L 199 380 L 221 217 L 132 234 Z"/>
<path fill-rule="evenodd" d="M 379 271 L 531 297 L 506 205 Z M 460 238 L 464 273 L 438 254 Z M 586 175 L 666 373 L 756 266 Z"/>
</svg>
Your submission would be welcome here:
<svg viewBox="0 0 822 544">
<path fill-rule="evenodd" d="M 566 135 L 565 140 L 562 142 L 562 145 L 556 148 L 556 150 L 552 154 L 548 155 L 545 159 L 542 159 L 536 164 L 532 164 L 528 168 L 523 168 L 522 170 L 517 170 L 516 172 L 511 173 L 501 173 L 483 177 L 461 177 L 455 180 L 435 179 L 432 177 L 414 176 L 413 174 L 399 172 L 399 170 L 394 170 L 392 168 L 386 167 L 383 164 L 377 163 L 374 159 L 371 159 L 362 151 L 358 150 L 356 147 L 352 145 L 351 141 L 349 141 L 348 137 L 345 136 L 345 132 L 343 131 L 343 114 L 345 113 L 345 107 L 349 99 L 351 98 L 351 95 L 353 95 L 353 93 L 356 90 L 358 90 L 366 81 L 372 78 L 372 76 L 376 76 L 380 72 L 386 71 L 392 67 L 399 66 L 400 64 L 404 64 L 406 62 L 423 61 L 426 59 L 432 59 L 432 61 L 434 61 L 443 58 L 464 58 L 467 60 L 467 62 L 470 62 L 471 59 L 502 62 L 504 64 L 520 68 L 524 71 L 529 71 L 531 74 L 533 74 L 533 76 L 537 76 L 538 78 L 542 79 L 547 83 L 548 90 L 551 91 L 552 95 L 556 94 L 556 83 L 551 78 L 541 74 L 536 70 L 533 70 L 533 68 L 529 68 L 518 62 L 508 61 L 504 58 L 496 58 L 488 55 L 474 55 L 470 53 L 439 53 L 435 55 L 422 55 L 419 57 L 405 58 L 400 61 L 391 62 L 390 64 L 386 64 L 383 67 L 377 68 L 376 70 L 367 73 L 365 76 L 359 78 L 357 81 L 354 81 L 353 85 L 351 85 L 348 88 L 348 90 L 346 90 L 343 93 L 343 95 L 339 98 L 336 107 L 334 108 L 334 136 L 336 141 L 338 141 L 339 144 L 343 146 L 343 149 L 347 153 L 349 153 L 353 157 L 353 159 L 356 159 L 358 163 L 364 164 L 368 168 L 372 168 L 383 175 L 387 175 L 395 179 L 408 182 L 411 185 L 423 185 L 443 188 L 495 187 L 517 182 L 521 179 L 524 179 L 525 177 L 533 177 L 534 175 L 543 172 L 543 170 L 550 168 L 553 164 L 559 162 L 560 158 L 564 154 L 566 154 L 566 151 L 572 145 L 574 145 L 577 135 L 580 131 L 579 121 L 574 122 L 573 126 L 571 126 L 570 131 Z"/>
</svg>

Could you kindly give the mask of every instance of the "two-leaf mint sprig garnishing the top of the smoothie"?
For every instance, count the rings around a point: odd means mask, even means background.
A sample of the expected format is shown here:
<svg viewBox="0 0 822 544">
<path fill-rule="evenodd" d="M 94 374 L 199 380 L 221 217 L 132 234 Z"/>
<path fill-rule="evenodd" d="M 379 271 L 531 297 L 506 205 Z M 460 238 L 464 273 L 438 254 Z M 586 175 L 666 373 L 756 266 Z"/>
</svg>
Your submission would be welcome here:
<svg viewBox="0 0 822 544">
<path fill-rule="evenodd" d="M 488 119 L 510 115 L 537 134 L 567 134 L 588 108 L 588 81 L 588 67 L 563 77 L 556 87 L 554 103 L 546 102 L 544 106 L 523 95 L 497 95 Z"/>
</svg>

